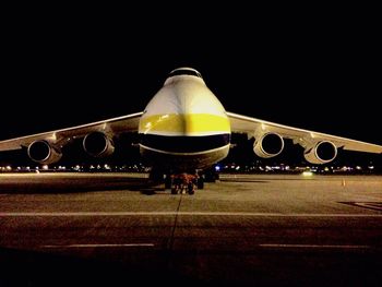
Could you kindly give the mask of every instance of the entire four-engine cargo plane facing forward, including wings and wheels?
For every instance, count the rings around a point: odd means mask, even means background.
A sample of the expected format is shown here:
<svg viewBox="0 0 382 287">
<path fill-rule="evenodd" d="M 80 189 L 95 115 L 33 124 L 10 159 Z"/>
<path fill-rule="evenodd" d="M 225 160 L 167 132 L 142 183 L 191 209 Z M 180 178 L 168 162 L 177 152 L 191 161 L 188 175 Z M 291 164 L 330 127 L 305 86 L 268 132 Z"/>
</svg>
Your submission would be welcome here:
<svg viewBox="0 0 382 287">
<path fill-rule="evenodd" d="M 194 186 L 202 189 L 200 175 L 228 156 L 234 132 L 254 137 L 253 152 L 262 158 L 279 155 L 285 139 L 302 146 L 311 164 L 332 162 L 338 148 L 382 153 L 381 145 L 226 111 L 201 73 L 188 67 L 172 70 L 143 111 L 0 141 L 0 152 L 24 150 L 35 163 L 49 165 L 61 159 L 64 146 L 81 140 L 88 155 L 107 157 L 127 132 L 138 132 L 140 154 L 153 167 L 151 178 L 166 178 L 171 193 L 179 192 L 179 182 L 188 184 L 190 194 Z"/>
</svg>

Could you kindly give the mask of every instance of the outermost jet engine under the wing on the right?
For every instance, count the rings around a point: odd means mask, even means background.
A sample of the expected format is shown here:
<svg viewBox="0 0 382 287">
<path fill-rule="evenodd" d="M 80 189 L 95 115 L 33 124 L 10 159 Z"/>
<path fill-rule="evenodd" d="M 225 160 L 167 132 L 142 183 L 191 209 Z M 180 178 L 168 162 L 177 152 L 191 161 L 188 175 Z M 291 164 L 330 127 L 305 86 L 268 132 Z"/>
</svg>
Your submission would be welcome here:
<svg viewBox="0 0 382 287">
<path fill-rule="evenodd" d="M 308 146 L 303 156 L 311 164 L 326 164 L 337 156 L 337 147 L 329 141 L 318 142 L 313 146 Z"/>
</svg>

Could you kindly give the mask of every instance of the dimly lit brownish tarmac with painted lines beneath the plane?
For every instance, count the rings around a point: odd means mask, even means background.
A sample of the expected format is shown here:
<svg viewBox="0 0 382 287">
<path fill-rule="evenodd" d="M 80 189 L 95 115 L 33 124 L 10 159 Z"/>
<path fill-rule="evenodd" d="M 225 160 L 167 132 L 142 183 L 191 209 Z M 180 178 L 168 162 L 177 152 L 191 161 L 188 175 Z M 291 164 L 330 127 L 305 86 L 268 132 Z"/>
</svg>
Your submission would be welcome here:
<svg viewBox="0 0 382 287">
<path fill-rule="evenodd" d="M 146 180 L 0 175 L 0 286 L 380 286 L 382 177 Z"/>
</svg>

